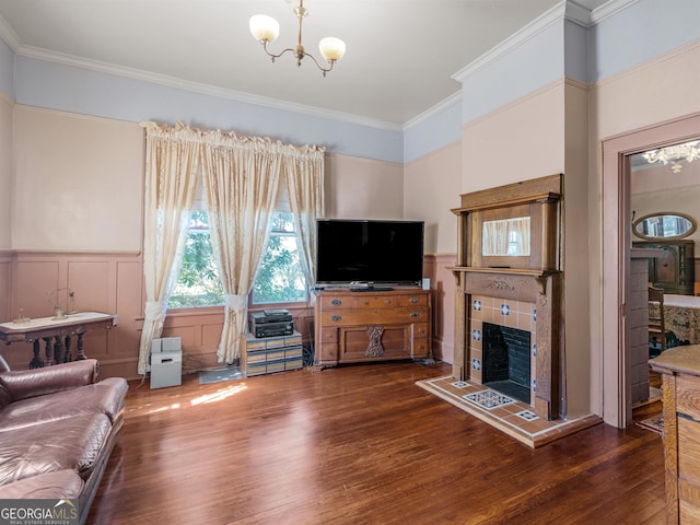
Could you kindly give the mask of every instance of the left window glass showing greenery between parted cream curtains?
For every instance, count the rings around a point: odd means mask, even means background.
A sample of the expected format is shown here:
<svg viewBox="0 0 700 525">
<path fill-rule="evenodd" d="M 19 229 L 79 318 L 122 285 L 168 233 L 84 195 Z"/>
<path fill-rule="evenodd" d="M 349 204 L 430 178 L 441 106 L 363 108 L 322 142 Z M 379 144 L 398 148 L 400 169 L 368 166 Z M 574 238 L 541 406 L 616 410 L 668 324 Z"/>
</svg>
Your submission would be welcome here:
<svg viewBox="0 0 700 525">
<path fill-rule="evenodd" d="M 224 303 L 223 287 L 209 238 L 209 221 L 206 211 L 192 211 L 183 267 L 177 284 L 167 301 L 170 308 L 219 306 Z"/>
</svg>

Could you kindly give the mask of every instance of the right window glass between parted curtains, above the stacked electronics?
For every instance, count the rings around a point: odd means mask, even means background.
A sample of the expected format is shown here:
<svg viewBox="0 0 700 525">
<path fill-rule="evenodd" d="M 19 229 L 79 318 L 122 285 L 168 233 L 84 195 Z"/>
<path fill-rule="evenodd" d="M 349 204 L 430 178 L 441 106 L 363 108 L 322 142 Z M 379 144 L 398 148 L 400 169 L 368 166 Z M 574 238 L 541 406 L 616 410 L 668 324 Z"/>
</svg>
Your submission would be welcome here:
<svg viewBox="0 0 700 525">
<path fill-rule="evenodd" d="M 306 279 L 300 257 L 292 213 L 276 212 L 253 285 L 253 304 L 305 302 Z"/>
</svg>

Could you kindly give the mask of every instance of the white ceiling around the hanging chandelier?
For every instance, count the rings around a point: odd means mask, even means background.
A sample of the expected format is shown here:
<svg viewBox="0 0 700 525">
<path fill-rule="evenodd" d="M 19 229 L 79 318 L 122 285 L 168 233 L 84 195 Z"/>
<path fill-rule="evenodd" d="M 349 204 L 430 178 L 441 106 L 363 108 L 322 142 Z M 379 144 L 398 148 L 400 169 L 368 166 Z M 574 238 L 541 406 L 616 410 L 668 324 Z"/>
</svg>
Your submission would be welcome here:
<svg viewBox="0 0 700 525">
<path fill-rule="evenodd" d="M 291 0 L 0 0 L 0 37 L 21 56 L 402 126 L 458 93 L 453 74 L 560 3 L 306 0 L 306 51 L 322 60 L 324 36 L 347 44 L 326 78 L 308 58 L 271 63 L 250 36 L 248 19 L 268 14 L 280 23 L 270 49 L 294 46 Z"/>
</svg>

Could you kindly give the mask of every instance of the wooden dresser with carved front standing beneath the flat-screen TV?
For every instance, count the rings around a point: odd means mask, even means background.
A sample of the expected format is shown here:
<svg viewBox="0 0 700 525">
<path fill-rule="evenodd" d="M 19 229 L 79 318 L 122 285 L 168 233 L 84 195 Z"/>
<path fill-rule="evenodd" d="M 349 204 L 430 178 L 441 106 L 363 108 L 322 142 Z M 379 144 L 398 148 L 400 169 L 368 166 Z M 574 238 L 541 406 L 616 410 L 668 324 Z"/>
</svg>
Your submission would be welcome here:
<svg viewBox="0 0 700 525">
<path fill-rule="evenodd" d="M 315 364 L 422 359 L 430 354 L 431 292 L 316 292 Z"/>
</svg>

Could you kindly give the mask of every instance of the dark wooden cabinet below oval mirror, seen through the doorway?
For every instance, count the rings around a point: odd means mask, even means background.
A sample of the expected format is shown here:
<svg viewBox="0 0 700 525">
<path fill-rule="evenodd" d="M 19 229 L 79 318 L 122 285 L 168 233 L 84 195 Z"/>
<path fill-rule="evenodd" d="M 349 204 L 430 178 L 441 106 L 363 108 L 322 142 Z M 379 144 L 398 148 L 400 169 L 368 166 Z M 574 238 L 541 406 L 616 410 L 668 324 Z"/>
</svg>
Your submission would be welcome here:
<svg viewBox="0 0 700 525">
<path fill-rule="evenodd" d="M 661 250 L 649 259 L 649 280 L 666 293 L 693 294 L 695 241 L 639 241 L 634 248 Z"/>
</svg>

